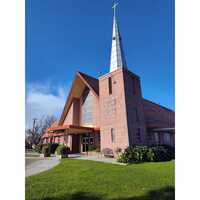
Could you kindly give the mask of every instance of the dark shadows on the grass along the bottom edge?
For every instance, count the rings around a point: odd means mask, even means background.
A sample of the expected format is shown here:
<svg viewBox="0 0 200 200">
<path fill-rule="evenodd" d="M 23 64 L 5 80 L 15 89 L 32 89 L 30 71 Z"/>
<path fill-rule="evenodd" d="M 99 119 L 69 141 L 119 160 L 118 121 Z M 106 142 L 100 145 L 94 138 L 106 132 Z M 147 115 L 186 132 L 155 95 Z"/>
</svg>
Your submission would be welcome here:
<svg viewBox="0 0 200 200">
<path fill-rule="evenodd" d="M 102 195 L 93 195 L 85 192 L 77 192 L 65 197 L 47 197 L 43 200 L 105 200 L 106 197 Z M 34 199 L 37 200 L 37 199 Z M 110 200 L 175 200 L 174 187 L 165 187 L 160 190 L 152 190 L 144 196 L 128 197 L 128 198 L 114 198 Z"/>
</svg>

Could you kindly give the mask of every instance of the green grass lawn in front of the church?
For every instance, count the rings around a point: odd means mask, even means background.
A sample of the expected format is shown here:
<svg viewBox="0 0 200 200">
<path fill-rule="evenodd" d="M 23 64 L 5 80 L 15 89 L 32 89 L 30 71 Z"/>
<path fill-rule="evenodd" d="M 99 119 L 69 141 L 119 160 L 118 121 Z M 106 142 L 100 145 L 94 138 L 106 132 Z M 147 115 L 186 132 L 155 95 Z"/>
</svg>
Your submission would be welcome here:
<svg viewBox="0 0 200 200">
<path fill-rule="evenodd" d="M 26 200 L 173 200 L 174 161 L 128 166 L 64 159 L 26 178 Z"/>
</svg>

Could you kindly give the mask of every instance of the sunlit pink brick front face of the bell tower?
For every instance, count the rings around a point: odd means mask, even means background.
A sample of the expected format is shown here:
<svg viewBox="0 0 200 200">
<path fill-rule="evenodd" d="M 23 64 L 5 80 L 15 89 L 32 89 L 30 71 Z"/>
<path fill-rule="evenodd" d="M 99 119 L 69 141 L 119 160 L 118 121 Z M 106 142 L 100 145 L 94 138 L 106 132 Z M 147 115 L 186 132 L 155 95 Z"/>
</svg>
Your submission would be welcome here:
<svg viewBox="0 0 200 200">
<path fill-rule="evenodd" d="M 112 94 L 109 94 L 109 77 L 112 82 Z M 100 77 L 99 104 L 101 150 L 126 148 L 129 146 L 129 138 L 122 70 Z M 114 142 L 111 138 L 111 129 L 114 129 Z"/>
</svg>

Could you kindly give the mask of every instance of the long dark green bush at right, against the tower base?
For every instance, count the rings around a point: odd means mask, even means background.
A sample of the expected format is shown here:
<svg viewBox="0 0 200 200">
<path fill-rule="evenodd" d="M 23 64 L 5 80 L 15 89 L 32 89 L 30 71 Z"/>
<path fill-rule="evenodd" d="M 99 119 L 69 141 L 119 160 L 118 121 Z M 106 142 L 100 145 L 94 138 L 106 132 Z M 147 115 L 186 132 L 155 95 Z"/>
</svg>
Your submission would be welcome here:
<svg viewBox="0 0 200 200">
<path fill-rule="evenodd" d="M 118 162 L 139 163 L 168 161 L 175 158 L 173 147 L 167 145 L 130 146 L 118 156 Z"/>
</svg>

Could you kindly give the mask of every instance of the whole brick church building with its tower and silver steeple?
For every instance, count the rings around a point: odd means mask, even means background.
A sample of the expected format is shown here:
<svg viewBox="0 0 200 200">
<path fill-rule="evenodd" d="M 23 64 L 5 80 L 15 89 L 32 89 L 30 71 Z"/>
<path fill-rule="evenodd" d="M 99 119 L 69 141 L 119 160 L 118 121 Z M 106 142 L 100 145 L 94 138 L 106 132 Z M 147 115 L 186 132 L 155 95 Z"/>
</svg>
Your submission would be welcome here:
<svg viewBox="0 0 200 200">
<path fill-rule="evenodd" d="M 71 153 L 107 148 L 113 155 L 130 145 L 175 145 L 175 113 L 143 98 L 140 77 L 126 64 L 115 8 L 109 73 L 76 73 L 60 119 L 43 143 L 65 144 Z"/>
</svg>

